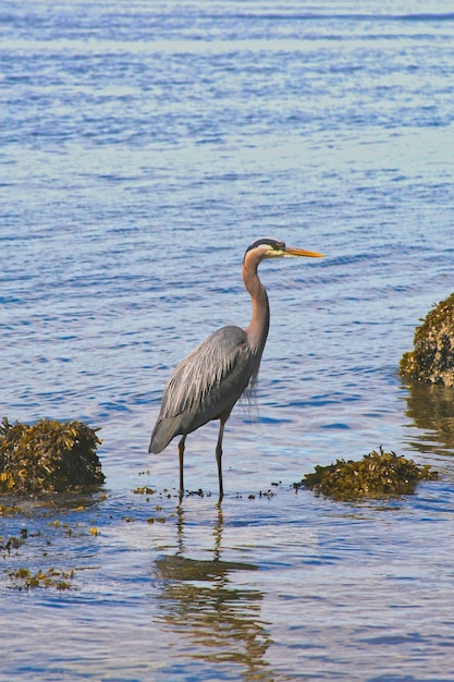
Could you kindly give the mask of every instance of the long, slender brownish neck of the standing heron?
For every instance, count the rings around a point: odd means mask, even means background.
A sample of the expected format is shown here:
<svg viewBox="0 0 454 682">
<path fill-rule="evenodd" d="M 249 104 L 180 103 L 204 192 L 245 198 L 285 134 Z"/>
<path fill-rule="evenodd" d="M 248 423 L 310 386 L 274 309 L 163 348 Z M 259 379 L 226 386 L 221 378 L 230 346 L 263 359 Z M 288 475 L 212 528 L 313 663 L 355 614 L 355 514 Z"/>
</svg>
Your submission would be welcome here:
<svg viewBox="0 0 454 682">
<path fill-rule="evenodd" d="M 243 264 L 243 281 L 253 303 L 253 317 L 246 333 L 250 348 L 261 355 L 270 327 L 270 306 L 263 284 L 260 282 L 257 268 L 260 260 L 246 254 Z"/>
</svg>

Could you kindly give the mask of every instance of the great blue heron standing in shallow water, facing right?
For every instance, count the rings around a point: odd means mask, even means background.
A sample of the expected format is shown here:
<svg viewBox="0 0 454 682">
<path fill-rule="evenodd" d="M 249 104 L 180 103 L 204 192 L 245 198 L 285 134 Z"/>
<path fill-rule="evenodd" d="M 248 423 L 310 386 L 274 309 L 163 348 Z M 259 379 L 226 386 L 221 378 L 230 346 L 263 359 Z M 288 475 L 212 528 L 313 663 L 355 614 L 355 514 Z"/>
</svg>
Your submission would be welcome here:
<svg viewBox="0 0 454 682">
<path fill-rule="evenodd" d="M 292 248 L 269 238 L 254 242 L 243 260 L 243 281 L 253 303 L 249 326 L 246 329 L 234 326 L 218 329 L 176 366 L 169 379 L 151 435 L 149 452 L 161 452 L 174 436 L 182 436 L 179 442 L 180 496 L 183 495 L 186 436 L 211 419 L 219 419 L 216 459 L 219 499 L 222 500 L 222 437 L 225 422 L 238 398 L 257 382 L 270 326 L 268 295 L 258 278 L 257 268 L 266 258 L 286 256 L 318 258 L 322 254 Z"/>
</svg>

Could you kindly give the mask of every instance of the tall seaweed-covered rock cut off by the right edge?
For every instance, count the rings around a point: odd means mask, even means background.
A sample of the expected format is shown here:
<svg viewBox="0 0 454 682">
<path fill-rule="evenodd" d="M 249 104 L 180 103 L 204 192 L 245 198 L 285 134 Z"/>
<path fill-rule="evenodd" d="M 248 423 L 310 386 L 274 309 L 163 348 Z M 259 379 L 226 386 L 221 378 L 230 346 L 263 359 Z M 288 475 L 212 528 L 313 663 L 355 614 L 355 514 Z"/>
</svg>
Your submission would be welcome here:
<svg viewBox="0 0 454 682">
<path fill-rule="evenodd" d="M 401 358 L 401 376 L 454 386 L 454 293 L 429 310 L 416 328 L 414 349 Z"/>
</svg>

